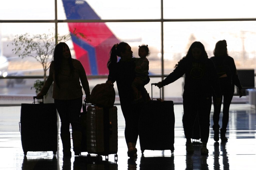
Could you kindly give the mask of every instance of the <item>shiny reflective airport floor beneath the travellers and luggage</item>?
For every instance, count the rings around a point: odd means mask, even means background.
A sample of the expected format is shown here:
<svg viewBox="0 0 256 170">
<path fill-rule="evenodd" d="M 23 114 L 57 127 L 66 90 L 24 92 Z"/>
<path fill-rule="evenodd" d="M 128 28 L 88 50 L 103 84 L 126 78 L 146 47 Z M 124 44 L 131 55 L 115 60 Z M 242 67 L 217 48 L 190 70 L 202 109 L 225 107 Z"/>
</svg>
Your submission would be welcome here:
<svg viewBox="0 0 256 170">
<path fill-rule="evenodd" d="M 146 150 L 144 157 L 142 157 L 138 140 L 138 157 L 137 159 L 129 159 L 127 157 L 124 139 L 124 118 L 121 108 L 118 106 L 118 161 L 115 162 L 114 155 L 109 155 L 109 160 L 107 161 L 105 156 L 96 157 L 96 155 L 92 154 L 91 157 L 88 157 L 87 152 L 82 152 L 82 156 L 74 156 L 72 152 L 71 159 L 63 159 L 60 136 L 58 138 L 58 152 L 55 158 L 52 152 L 28 152 L 27 157 L 24 158 L 19 132 L 20 106 L 0 107 L 0 168 L 132 170 L 256 169 L 255 107 L 253 108 L 249 104 L 231 104 L 227 131 L 228 142 L 224 144 L 215 142 L 213 140 L 213 131 L 210 129 L 210 137 L 207 145 L 209 155 L 207 156 L 201 156 L 201 146 L 198 145 L 194 145 L 194 154 L 186 154 L 186 140 L 182 127 L 183 106 L 175 105 L 174 112 L 174 155 L 171 155 L 170 150 Z"/>
</svg>

